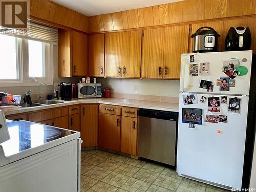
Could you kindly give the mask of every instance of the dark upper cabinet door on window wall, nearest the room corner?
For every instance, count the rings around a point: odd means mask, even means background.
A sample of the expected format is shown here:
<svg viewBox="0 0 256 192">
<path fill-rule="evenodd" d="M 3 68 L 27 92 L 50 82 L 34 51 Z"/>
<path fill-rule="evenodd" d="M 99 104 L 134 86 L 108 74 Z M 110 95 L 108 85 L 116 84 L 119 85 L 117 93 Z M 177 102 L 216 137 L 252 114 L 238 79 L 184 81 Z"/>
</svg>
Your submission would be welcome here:
<svg viewBox="0 0 256 192">
<path fill-rule="evenodd" d="M 84 33 L 72 31 L 72 75 L 86 76 L 88 73 L 87 62 L 88 37 Z"/>
</svg>

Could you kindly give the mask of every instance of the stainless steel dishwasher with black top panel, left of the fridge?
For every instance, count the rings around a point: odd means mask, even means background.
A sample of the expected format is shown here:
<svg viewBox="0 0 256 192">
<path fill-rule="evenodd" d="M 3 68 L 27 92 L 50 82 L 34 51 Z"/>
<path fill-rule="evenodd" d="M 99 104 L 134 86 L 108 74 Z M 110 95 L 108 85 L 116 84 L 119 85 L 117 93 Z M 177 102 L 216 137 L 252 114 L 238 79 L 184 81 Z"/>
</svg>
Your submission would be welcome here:
<svg viewBox="0 0 256 192">
<path fill-rule="evenodd" d="M 139 110 L 138 156 L 176 165 L 178 113 Z"/>
</svg>

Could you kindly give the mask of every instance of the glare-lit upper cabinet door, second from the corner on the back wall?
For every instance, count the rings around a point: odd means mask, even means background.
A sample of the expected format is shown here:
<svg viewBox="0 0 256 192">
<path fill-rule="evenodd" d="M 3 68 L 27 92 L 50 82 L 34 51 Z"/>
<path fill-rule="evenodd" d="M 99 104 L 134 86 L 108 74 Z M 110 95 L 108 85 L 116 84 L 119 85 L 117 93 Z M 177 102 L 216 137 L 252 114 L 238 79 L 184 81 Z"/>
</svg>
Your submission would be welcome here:
<svg viewBox="0 0 256 192">
<path fill-rule="evenodd" d="M 105 76 L 121 77 L 122 76 L 122 42 L 123 33 L 106 33 L 105 34 Z M 118 74 L 118 68 L 121 68 Z"/>
</svg>

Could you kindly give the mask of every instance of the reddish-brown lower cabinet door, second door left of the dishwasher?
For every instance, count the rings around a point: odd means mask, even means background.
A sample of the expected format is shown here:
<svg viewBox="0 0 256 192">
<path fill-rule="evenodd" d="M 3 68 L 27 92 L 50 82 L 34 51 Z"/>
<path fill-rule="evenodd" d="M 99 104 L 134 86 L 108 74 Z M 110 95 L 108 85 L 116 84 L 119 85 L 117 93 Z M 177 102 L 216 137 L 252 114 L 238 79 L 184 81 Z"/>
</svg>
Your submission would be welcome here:
<svg viewBox="0 0 256 192">
<path fill-rule="evenodd" d="M 120 116 L 99 114 L 99 147 L 120 151 Z"/>
</svg>

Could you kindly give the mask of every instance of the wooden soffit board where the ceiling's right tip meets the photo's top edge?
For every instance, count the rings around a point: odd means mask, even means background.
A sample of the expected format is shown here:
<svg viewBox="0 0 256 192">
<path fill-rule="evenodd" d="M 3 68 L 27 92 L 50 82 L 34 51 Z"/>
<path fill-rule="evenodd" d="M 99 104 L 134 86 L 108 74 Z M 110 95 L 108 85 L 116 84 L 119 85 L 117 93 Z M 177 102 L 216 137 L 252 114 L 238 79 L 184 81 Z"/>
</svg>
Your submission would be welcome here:
<svg viewBox="0 0 256 192">
<path fill-rule="evenodd" d="M 197 0 L 182 1 L 182 22 L 197 20 Z"/>
</svg>

